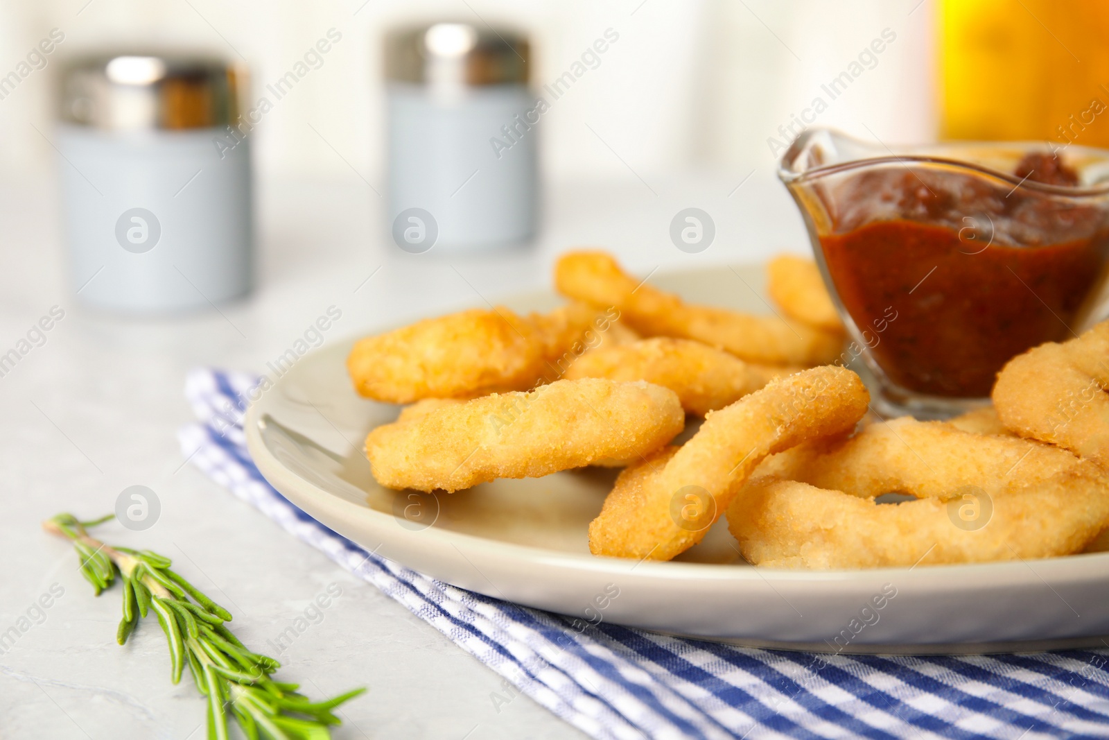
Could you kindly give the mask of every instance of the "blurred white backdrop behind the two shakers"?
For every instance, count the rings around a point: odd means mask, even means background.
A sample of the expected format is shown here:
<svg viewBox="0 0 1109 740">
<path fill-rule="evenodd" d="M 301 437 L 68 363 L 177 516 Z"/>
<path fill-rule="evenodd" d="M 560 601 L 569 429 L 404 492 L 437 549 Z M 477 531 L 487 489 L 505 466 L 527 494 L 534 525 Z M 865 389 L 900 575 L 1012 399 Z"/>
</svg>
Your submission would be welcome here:
<svg viewBox="0 0 1109 740">
<path fill-rule="evenodd" d="M 651 180 L 713 168 L 770 173 L 767 139 L 801 115 L 884 29 L 895 34 L 817 119 L 863 138 L 932 139 L 933 0 L 3 0 L 0 74 L 51 29 L 64 41 L 0 100 L 0 166 L 49 164 L 58 60 L 103 47 L 204 48 L 242 57 L 256 100 L 335 28 L 340 43 L 255 133 L 262 178 L 383 180 L 380 39 L 414 19 L 507 23 L 531 34 L 538 88 L 611 28 L 619 42 L 543 119 L 542 161 L 557 180 Z M 326 143 L 309 124 L 326 138 Z M 588 124 L 588 125 L 587 125 Z M 596 134 L 590 131 L 592 128 Z M 599 140 L 603 139 L 602 141 Z M 611 148 L 611 150 L 609 149 Z M 622 161 L 621 161 L 622 160 Z"/>
</svg>

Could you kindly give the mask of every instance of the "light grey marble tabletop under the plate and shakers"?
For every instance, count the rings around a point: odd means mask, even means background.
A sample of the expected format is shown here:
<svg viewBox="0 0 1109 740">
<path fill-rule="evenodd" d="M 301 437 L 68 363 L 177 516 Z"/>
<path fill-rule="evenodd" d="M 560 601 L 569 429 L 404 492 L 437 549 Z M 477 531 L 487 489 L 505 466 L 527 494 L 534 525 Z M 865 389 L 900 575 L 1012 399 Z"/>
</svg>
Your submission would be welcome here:
<svg viewBox="0 0 1109 740">
<path fill-rule="evenodd" d="M 0 652 L 0 737 L 204 737 L 203 701 L 187 677 L 170 683 L 156 624 L 116 646 L 119 588 L 93 598 L 70 546 L 39 528 L 59 511 L 109 513 L 136 484 L 156 493 L 156 524 L 135 533 L 111 523 L 98 531 L 174 558 L 231 609 L 248 646 L 272 653 L 267 640 L 311 599 L 342 590 L 323 621 L 277 656 L 284 680 L 314 697 L 369 687 L 343 709 L 336 738 L 582 737 L 525 696 L 499 706 L 492 695 L 507 695 L 496 673 L 184 464 L 175 436 L 192 419 L 184 374 L 199 365 L 262 371 L 333 305 L 343 317 L 329 339 L 546 285 L 554 256 L 572 245 L 612 249 L 641 274 L 805 251 L 784 189 L 770 172 L 747 174 L 553 185 L 536 245 L 480 257 L 401 253 L 383 235 L 381 202 L 353 175 L 262 183 L 254 296 L 222 313 L 135 320 L 81 308 L 64 274 L 53 184 L 43 173 L 6 173 L 0 354 L 52 306 L 64 318 L 0 377 L 0 632 L 51 588 L 63 594 Z M 714 243 L 700 254 L 669 237 L 671 219 L 688 206 L 716 224 Z M 736 290 L 745 288 L 737 282 Z"/>
</svg>

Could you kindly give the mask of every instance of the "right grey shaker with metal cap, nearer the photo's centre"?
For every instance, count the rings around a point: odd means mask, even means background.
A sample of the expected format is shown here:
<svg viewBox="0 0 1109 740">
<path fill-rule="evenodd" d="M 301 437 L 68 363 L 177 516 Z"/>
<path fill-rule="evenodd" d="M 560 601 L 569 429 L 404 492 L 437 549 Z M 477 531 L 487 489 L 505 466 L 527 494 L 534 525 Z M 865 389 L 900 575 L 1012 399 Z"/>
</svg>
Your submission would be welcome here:
<svg viewBox="0 0 1109 740">
<path fill-rule="evenodd" d="M 536 230 L 530 48 L 509 29 L 431 23 L 385 39 L 389 219 L 407 252 L 464 252 Z"/>
</svg>

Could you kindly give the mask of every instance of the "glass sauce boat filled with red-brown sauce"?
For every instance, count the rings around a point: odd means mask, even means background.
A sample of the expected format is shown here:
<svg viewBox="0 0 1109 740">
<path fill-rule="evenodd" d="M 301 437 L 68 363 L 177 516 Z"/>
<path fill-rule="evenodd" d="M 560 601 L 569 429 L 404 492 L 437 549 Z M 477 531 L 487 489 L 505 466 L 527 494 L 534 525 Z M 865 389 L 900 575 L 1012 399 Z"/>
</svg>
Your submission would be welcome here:
<svg viewBox="0 0 1109 740">
<path fill-rule="evenodd" d="M 980 405 L 1011 357 L 1101 318 L 1109 151 L 944 143 L 891 151 L 805 131 L 779 176 L 889 413 Z"/>
</svg>

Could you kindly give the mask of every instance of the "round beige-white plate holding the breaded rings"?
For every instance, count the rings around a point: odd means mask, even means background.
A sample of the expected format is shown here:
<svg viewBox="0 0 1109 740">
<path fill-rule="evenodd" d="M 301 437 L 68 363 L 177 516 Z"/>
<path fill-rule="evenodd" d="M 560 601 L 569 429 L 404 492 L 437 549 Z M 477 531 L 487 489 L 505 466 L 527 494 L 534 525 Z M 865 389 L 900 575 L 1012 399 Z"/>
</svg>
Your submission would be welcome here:
<svg viewBox="0 0 1109 740">
<path fill-rule="evenodd" d="M 762 272 L 721 267 L 654 282 L 701 303 L 766 312 L 755 294 Z M 503 303 L 548 310 L 558 298 L 537 291 Z M 1105 647 L 1105 553 L 986 565 L 772 570 L 740 558 L 722 519 L 678 560 L 637 564 L 589 554 L 587 526 L 612 470 L 497 480 L 455 494 L 383 488 L 363 456 L 363 439 L 393 420 L 398 407 L 355 394 L 344 362 L 353 342 L 304 357 L 251 407 L 251 454 L 266 479 L 309 515 L 429 576 L 592 621 L 744 645 L 844 652 Z M 617 598 L 604 598 L 615 589 Z M 883 608 L 875 608 L 875 599 Z"/>
</svg>

